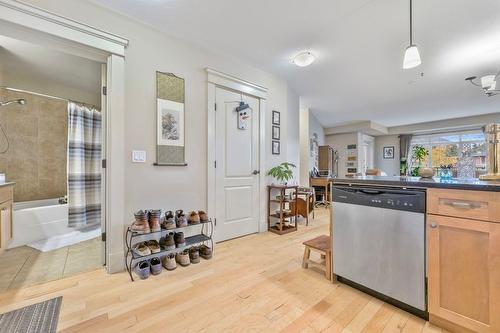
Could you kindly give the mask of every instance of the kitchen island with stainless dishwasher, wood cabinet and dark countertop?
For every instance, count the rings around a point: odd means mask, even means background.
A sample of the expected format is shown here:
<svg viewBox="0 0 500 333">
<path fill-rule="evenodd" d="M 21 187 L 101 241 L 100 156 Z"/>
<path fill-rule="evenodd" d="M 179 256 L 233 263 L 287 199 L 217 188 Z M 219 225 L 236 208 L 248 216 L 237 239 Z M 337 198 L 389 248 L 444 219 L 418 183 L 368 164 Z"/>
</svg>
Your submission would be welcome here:
<svg viewBox="0 0 500 333">
<path fill-rule="evenodd" d="M 333 184 L 341 281 L 414 313 L 423 296 L 417 314 L 452 332 L 500 332 L 500 182 L 367 176 Z"/>
</svg>

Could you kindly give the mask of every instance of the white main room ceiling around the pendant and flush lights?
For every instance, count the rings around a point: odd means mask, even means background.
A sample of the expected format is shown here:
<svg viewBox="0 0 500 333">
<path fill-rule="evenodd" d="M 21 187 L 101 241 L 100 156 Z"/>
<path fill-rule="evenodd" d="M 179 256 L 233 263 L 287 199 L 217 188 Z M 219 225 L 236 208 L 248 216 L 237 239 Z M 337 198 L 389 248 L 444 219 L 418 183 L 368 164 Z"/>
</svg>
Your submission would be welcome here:
<svg viewBox="0 0 500 333">
<path fill-rule="evenodd" d="M 402 69 L 404 0 L 93 0 L 286 79 L 323 124 L 398 126 L 500 112 L 465 77 L 500 70 L 500 1 L 416 0 L 423 64 Z M 290 56 L 310 49 L 299 68 Z"/>
</svg>

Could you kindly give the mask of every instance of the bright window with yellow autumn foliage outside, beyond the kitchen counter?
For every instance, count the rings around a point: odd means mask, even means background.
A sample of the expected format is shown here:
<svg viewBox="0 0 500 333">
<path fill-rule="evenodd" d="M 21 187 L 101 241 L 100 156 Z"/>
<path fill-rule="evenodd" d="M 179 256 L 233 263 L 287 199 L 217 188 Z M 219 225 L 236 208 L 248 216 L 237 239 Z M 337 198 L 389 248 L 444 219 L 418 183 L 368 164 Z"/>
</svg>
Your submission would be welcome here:
<svg viewBox="0 0 500 333">
<path fill-rule="evenodd" d="M 441 165 L 452 165 L 453 177 L 478 178 L 486 173 L 487 146 L 481 131 L 450 132 L 415 135 L 411 140 L 410 156 L 414 146 L 429 151 L 424 161 L 436 174 Z M 411 161 L 415 166 L 416 162 Z"/>
</svg>

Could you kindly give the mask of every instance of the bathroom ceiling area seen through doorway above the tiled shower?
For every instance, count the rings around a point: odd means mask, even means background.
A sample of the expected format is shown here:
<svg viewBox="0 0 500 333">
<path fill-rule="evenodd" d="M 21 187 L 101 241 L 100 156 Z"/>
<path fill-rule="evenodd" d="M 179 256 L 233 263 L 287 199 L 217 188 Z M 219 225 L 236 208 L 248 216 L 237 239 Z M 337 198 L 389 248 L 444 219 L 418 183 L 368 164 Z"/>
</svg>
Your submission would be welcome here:
<svg viewBox="0 0 500 333">
<path fill-rule="evenodd" d="M 101 64 L 0 35 L 0 85 L 99 105 Z"/>
</svg>

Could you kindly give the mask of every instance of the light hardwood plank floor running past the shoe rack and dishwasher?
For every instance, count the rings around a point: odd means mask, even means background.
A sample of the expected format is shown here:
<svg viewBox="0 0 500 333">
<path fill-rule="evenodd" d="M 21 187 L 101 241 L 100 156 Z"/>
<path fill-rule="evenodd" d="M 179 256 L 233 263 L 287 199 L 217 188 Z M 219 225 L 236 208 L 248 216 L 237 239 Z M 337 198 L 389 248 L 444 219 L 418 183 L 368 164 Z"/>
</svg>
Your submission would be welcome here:
<svg viewBox="0 0 500 333">
<path fill-rule="evenodd" d="M 60 332 L 444 332 L 302 269 L 302 242 L 328 233 L 327 216 L 218 244 L 212 260 L 144 281 L 100 269 L 2 292 L 0 313 L 62 295 Z"/>
</svg>

